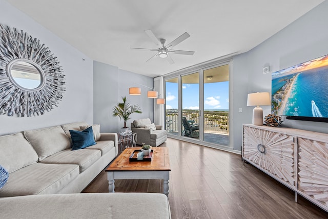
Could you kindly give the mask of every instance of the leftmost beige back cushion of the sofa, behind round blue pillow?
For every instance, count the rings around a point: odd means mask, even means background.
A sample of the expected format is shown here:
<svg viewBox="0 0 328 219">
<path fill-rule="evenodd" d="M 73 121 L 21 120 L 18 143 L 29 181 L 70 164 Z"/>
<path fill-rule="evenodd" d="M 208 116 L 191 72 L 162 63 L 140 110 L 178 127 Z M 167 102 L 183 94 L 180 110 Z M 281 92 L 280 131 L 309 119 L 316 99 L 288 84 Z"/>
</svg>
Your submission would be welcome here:
<svg viewBox="0 0 328 219">
<path fill-rule="evenodd" d="M 37 160 L 35 150 L 24 138 L 23 133 L 18 132 L 0 137 L 0 165 L 9 173 L 34 164 Z"/>
</svg>

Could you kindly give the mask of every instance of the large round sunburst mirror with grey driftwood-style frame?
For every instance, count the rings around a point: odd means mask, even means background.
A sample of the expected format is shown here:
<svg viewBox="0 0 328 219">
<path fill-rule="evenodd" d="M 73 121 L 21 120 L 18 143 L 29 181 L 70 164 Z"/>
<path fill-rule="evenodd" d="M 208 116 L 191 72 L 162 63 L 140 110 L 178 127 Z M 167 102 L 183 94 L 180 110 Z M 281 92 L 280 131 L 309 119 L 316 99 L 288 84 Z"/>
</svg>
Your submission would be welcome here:
<svg viewBox="0 0 328 219">
<path fill-rule="evenodd" d="M 0 25 L 0 113 L 36 116 L 57 106 L 65 75 L 54 54 L 23 30 Z"/>
</svg>

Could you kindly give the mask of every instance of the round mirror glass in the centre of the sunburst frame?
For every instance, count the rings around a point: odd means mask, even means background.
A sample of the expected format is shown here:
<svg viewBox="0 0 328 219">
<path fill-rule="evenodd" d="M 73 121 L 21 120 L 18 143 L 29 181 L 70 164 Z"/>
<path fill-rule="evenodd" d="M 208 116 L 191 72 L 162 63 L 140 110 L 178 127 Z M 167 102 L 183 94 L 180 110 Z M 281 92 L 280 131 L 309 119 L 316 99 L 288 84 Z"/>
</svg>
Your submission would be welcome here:
<svg viewBox="0 0 328 219">
<path fill-rule="evenodd" d="M 31 62 L 15 62 L 9 71 L 14 83 L 25 90 L 34 90 L 42 84 L 42 74 Z"/>
</svg>

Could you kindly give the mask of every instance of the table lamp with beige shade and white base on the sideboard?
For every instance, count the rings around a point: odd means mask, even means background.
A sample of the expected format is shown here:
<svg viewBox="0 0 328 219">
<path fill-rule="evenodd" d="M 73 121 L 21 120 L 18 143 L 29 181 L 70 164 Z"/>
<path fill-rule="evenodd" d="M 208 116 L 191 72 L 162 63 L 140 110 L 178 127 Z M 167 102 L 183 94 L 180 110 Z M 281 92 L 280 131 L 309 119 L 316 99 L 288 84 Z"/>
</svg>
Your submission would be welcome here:
<svg viewBox="0 0 328 219">
<path fill-rule="evenodd" d="M 247 95 L 247 106 L 256 106 L 253 109 L 253 125 L 263 125 L 263 110 L 260 106 L 269 105 L 271 105 L 269 92 L 249 93 Z"/>
</svg>

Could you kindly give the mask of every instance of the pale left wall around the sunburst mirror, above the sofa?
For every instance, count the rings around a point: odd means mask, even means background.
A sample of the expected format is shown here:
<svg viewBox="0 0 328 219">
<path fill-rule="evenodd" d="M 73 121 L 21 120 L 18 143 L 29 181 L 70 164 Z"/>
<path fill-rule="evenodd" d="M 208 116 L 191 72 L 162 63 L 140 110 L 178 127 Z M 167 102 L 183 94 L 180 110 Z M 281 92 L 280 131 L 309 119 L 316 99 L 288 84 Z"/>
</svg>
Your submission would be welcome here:
<svg viewBox="0 0 328 219">
<path fill-rule="evenodd" d="M 0 135 L 75 121 L 92 123 L 92 60 L 4 0 L 0 0 L 0 23 L 22 29 L 38 38 L 40 43 L 44 43 L 58 57 L 66 75 L 66 91 L 58 107 L 54 106 L 50 112 L 33 117 L 0 115 Z"/>
</svg>

